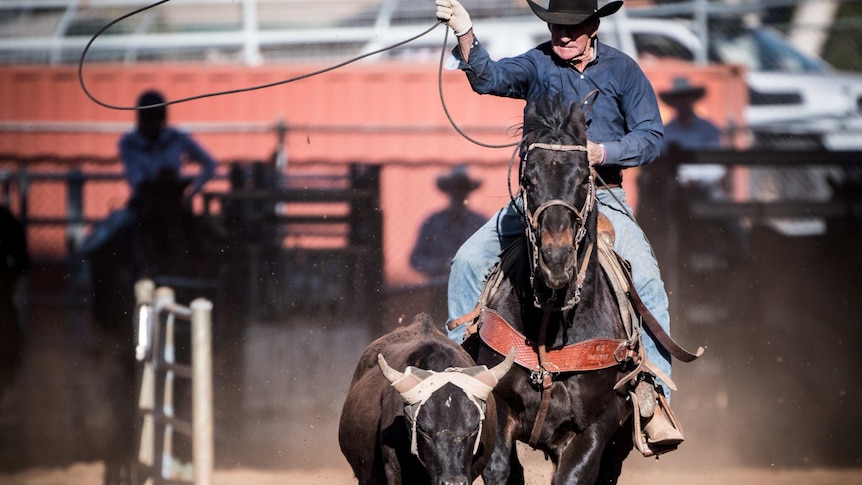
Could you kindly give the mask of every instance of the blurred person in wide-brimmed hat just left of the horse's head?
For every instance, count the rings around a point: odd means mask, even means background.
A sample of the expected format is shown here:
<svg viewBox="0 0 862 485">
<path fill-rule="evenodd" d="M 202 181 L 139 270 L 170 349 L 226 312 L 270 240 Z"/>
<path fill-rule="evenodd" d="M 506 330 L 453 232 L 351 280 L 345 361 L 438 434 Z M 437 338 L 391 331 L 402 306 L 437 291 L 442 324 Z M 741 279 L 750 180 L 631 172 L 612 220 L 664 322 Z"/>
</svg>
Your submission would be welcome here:
<svg viewBox="0 0 862 485">
<path fill-rule="evenodd" d="M 437 188 L 449 197 L 449 205 L 422 223 L 410 255 L 414 269 L 431 278 L 449 276 L 449 265 L 461 243 L 488 220 L 467 206 L 470 193 L 481 185 L 482 181 L 471 178 L 463 165 L 437 177 Z"/>
</svg>

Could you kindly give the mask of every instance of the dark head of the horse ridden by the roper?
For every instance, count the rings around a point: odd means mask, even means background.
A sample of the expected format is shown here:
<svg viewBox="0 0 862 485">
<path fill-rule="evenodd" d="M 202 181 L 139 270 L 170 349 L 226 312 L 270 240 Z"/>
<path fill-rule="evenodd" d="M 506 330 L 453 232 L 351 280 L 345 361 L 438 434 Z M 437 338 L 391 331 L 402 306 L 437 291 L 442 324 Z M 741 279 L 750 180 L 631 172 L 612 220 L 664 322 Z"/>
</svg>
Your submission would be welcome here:
<svg viewBox="0 0 862 485">
<path fill-rule="evenodd" d="M 521 188 L 534 285 L 571 288 L 583 278 L 578 252 L 595 198 L 584 114 L 559 95 L 542 98 L 528 106 L 523 133 Z"/>
</svg>

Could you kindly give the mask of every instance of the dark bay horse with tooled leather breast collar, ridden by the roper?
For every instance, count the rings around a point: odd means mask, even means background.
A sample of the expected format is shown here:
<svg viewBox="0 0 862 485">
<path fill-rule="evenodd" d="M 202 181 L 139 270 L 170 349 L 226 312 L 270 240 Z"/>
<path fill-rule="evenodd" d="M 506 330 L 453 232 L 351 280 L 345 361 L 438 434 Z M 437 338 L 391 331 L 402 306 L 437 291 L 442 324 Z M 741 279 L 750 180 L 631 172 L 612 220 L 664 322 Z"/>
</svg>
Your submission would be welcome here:
<svg viewBox="0 0 862 485">
<path fill-rule="evenodd" d="M 516 441 L 550 458 L 554 484 L 616 483 L 632 449 L 631 405 L 615 386 L 634 368 L 637 342 L 600 267 L 586 145 L 578 103 L 542 99 L 528 107 L 521 145 L 527 237 L 504 251 L 478 334 L 464 344 L 485 365 L 503 359 L 495 342 L 522 344 L 519 365 L 494 390 L 499 435 L 483 474 L 488 485 L 524 483 Z"/>
</svg>

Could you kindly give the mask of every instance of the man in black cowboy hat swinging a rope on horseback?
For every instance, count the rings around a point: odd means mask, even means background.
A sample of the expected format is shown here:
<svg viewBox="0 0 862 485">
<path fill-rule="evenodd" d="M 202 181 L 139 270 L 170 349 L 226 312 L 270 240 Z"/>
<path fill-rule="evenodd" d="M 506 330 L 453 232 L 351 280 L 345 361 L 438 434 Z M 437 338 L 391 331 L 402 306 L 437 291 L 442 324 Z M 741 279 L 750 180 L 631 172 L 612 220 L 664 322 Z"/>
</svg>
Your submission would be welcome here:
<svg viewBox="0 0 862 485">
<path fill-rule="evenodd" d="M 652 162 L 661 150 L 662 122 L 652 85 L 637 63 L 617 49 L 599 41 L 602 17 L 622 7 L 612 0 L 599 8 L 597 0 L 527 0 L 533 13 L 548 24 L 551 40 L 527 52 L 494 61 L 474 35 L 467 10 L 458 0 L 436 0 L 437 19 L 452 28 L 458 46 L 452 54 L 459 61 L 473 90 L 524 99 L 562 93 L 567 102 L 583 102 L 587 114 L 590 164 L 604 185 L 597 191 L 599 210 L 614 226 L 614 249 L 632 265 L 634 286 L 647 308 L 666 332 L 670 331 L 668 298 L 658 262 L 642 229 L 631 217 L 621 187 L 622 171 Z M 591 92 L 597 90 L 593 96 Z M 589 96 L 588 96 L 589 95 Z M 458 250 L 449 277 L 449 321 L 470 312 L 476 305 L 484 278 L 499 260 L 503 247 L 523 234 L 524 221 L 510 203 L 494 215 Z M 464 338 L 456 328 L 450 337 Z M 644 338 L 647 359 L 659 377 L 670 376 L 670 355 L 656 345 L 651 334 Z M 637 396 L 644 416 L 647 441 L 656 447 L 674 447 L 683 440 L 656 407 L 652 383 L 641 383 Z M 656 390 L 670 391 L 655 382 Z M 668 410 L 669 411 L 669 410 Z"/>
</svg>

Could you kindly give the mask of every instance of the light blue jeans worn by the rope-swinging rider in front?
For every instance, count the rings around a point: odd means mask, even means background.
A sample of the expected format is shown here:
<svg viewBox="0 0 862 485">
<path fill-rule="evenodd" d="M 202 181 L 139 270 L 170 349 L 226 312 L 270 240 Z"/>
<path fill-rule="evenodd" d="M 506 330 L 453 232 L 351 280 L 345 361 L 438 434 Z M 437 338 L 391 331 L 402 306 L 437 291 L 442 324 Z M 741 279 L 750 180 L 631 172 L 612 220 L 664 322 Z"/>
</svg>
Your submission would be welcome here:
<svg viewBox="0 0 862 485">
<path fill-rule="evenodd" d="M 631 213 L 622 188 L 596 192 L 599 211 L 614 226 L 616 252 L 632 265 L 635 289 L 646 307 L 666 332 L 670 333 L 667 292 L 661 280 L 658 261 L 640 226 L 620 208 L 614 197 Z M 518 201 L 520 204 L 520 201 Z M 449 273 L 449 321 L 469 313 L 479 301 L 488 275 L 499 261 L 500 251 L 524 233 L 524 221 L 512 203 L 500 209 L 484 226 L 479 228 L 458 250 L 452 259 Z M 464 340 L 465 326 L 448 331 L 455 342 Z M 670 377 L 670 354 L 659 349 L 649 332 L 644 332 L 644 351 L 647 358 Z M 664 386 L 665 394 L 670 390 Z"/>
</svg>

